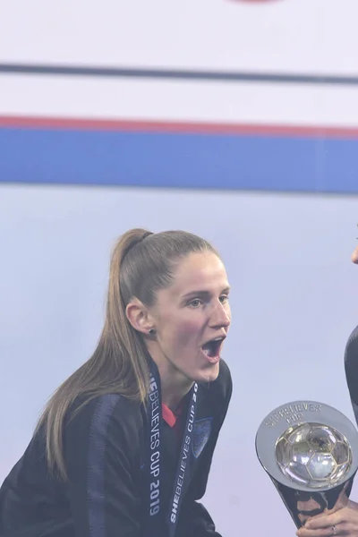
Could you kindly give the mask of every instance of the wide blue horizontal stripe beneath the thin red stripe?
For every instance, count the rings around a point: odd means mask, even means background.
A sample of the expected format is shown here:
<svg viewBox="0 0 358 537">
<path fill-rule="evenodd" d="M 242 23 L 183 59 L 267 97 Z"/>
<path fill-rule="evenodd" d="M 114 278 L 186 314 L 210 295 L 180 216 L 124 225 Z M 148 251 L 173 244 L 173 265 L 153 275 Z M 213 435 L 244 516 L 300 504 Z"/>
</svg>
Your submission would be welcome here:
<svg viewBox="0 0 358 537">
<path fill-rule="evenodd" d="M 0 182 L 358 193 L 358 140 L 4 127 Z"/>
</svg>

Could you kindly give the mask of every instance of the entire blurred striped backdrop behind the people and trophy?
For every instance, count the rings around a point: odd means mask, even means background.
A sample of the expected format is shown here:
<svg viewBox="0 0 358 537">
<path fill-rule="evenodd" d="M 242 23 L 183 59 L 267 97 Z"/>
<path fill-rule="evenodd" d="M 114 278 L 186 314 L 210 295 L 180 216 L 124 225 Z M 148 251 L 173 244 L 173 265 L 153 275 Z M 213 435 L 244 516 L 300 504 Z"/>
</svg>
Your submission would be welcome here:
<svg viewBox="0 0 358 537">
<path fill-rule="evenodd" d="M 204 503 L 224 537 L 294 535 L 254 442 L 296 399 L 354 421 L 357 19 L 356 0 L 0 5 L 0 482 L 96 345 L 115 238 L 182 228 L 233 287 Z"/>
</svg>

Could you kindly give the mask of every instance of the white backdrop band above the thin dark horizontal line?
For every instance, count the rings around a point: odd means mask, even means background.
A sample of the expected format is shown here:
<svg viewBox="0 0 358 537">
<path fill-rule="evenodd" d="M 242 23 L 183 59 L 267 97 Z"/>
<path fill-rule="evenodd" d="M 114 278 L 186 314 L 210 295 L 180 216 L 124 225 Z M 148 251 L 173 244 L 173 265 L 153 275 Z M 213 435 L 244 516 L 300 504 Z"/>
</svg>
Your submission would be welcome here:
<svg viewBox="0 0 358 537">
<path fill-rule="evenodd" d="M 0 62 L 353 74 L 355 0 L 13 0 Z"/>
</svg>

